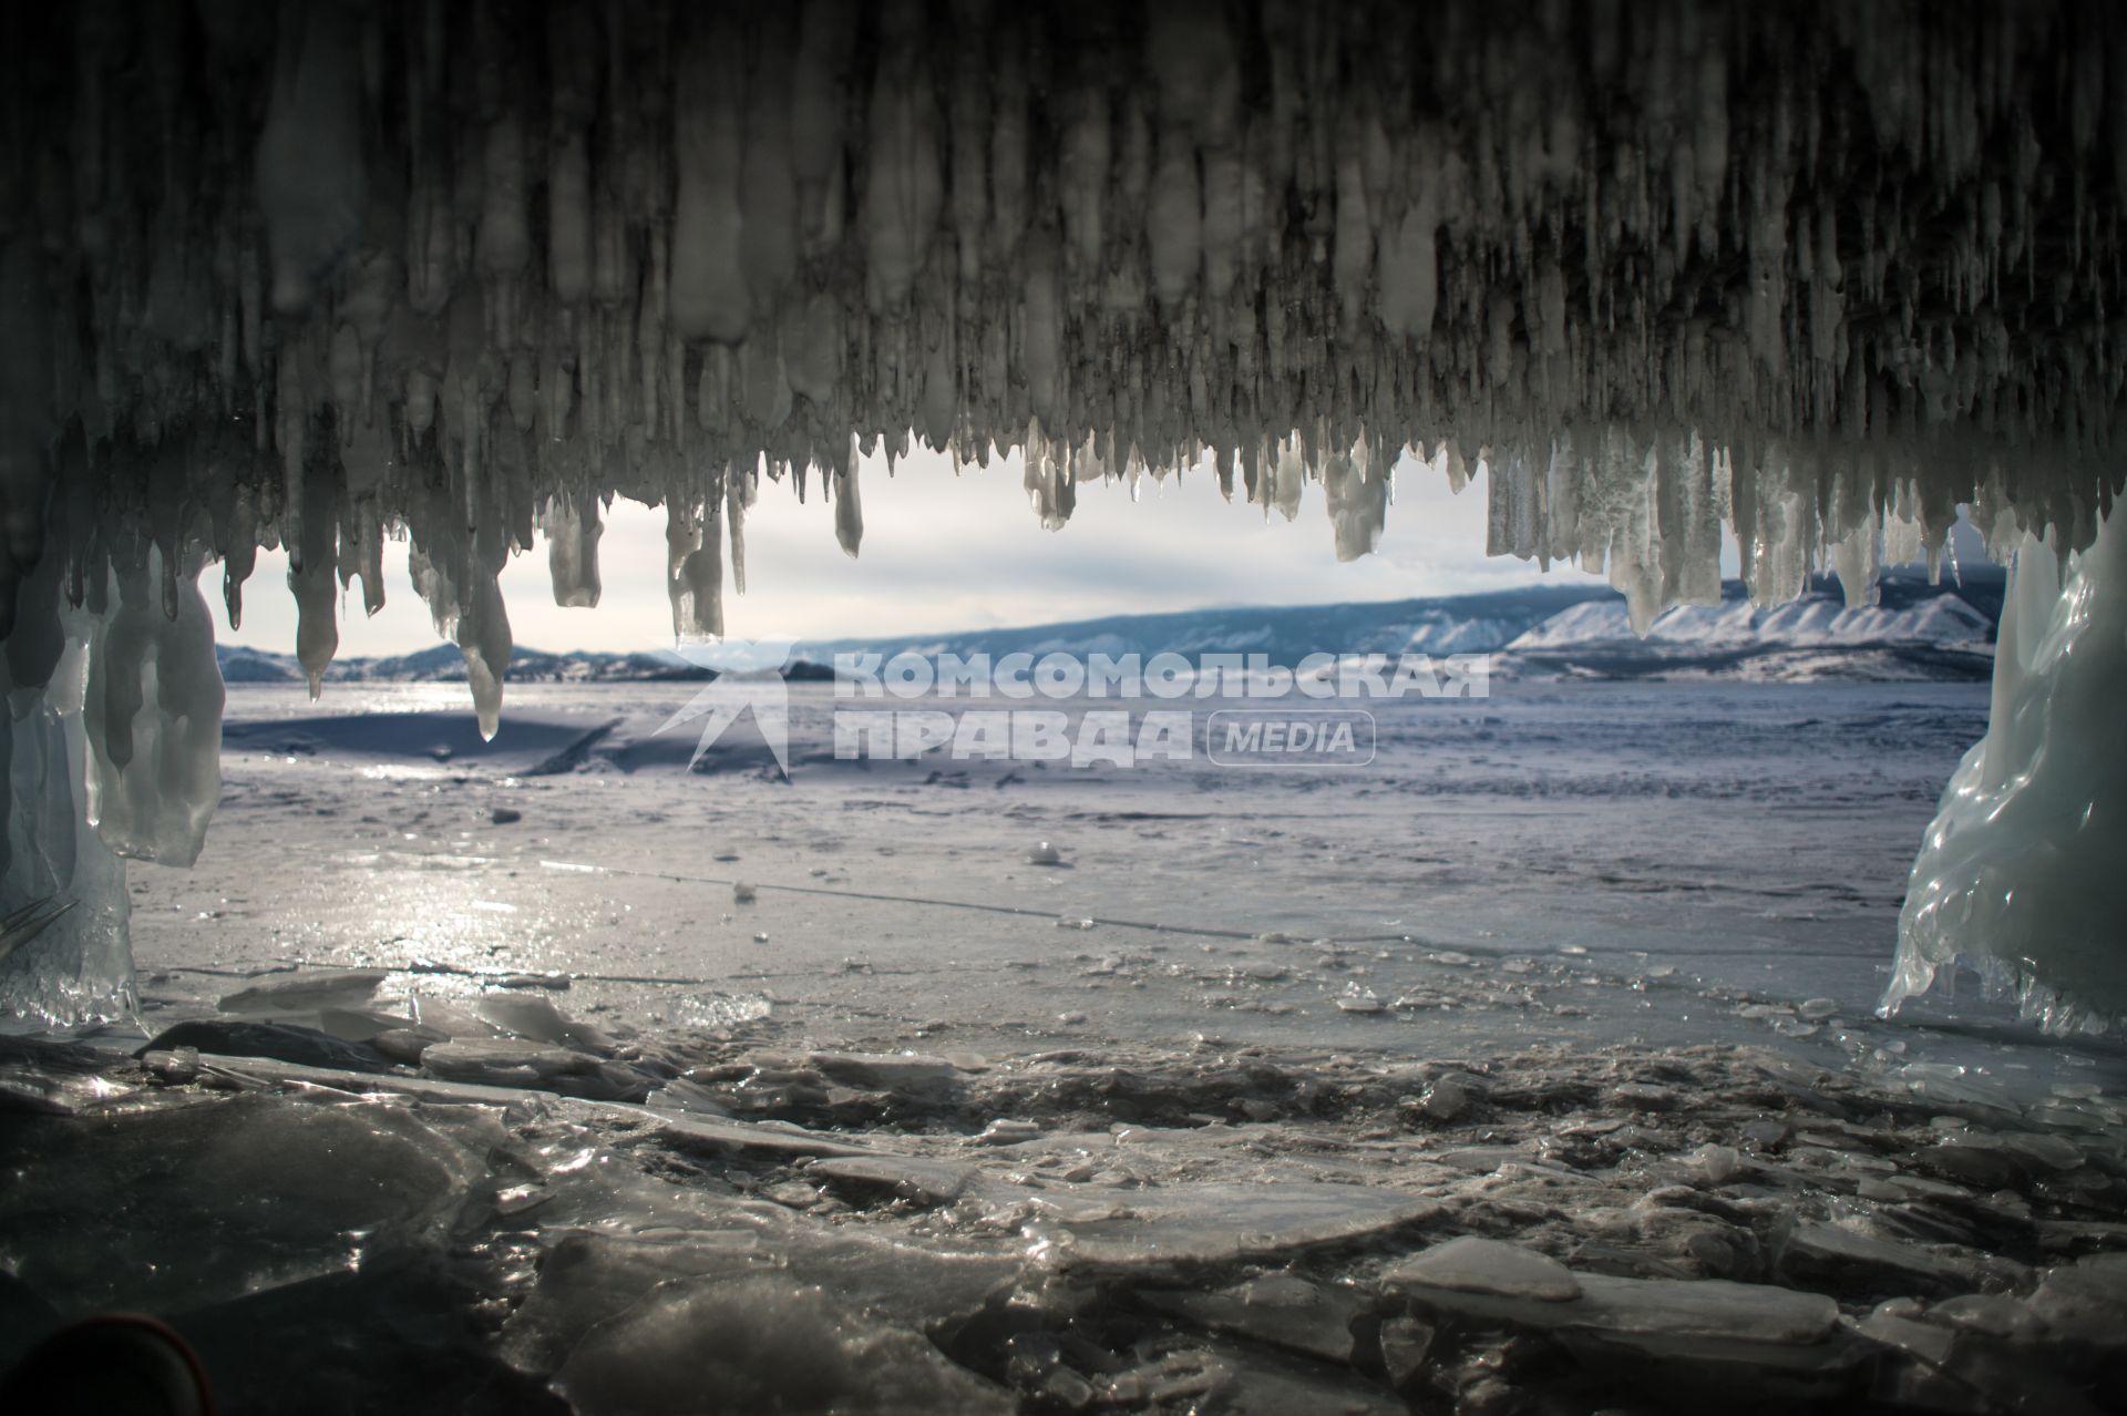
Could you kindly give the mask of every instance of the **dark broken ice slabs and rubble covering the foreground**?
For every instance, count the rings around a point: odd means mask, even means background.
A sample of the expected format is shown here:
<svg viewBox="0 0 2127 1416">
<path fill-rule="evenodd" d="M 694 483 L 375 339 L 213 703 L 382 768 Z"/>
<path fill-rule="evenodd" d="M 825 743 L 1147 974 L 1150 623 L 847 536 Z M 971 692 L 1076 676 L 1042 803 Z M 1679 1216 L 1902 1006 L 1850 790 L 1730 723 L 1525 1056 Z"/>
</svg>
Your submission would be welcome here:
<svg viewBox="0 0 2127 1416">
<path fill-rule="evenodd" d="M 132 1305 L 228 1410 L 2089 1412 L 2127 1361 L 2127 1112 L 2008 1069 L 585 1052 L 676 1110 L 166 1042 L 0 1040 L 0 1365 Z"/>
</svg>

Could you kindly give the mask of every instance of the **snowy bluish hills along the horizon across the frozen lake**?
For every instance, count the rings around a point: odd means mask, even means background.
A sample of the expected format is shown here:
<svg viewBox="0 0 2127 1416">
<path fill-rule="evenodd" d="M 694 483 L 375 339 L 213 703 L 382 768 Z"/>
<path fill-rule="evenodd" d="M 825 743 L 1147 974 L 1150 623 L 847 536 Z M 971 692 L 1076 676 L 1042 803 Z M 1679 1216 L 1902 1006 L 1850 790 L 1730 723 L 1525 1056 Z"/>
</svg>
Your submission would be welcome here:
<svg viewBox="0 0 2127 1416">
<path fill-rule="evenodd" d="M 1929 585 L 1919 572 L 1889 572 L 1874 606 L 1848 610 L 1838 583 L 1770 610 L 1748 602 L 1738 580 L 1716 606 L 1678 606 L 1642 640 L 1625 619 L 1625 597 L 1593 585 L 1523 585 L 1474 595 L 1378 604 L 1251 606 L 1110 614 L 1010 629 L 961 629 L 898 638 L 798 644 L 787 676 L 821 678 L 838 653 L 976 655 L 1070 653 L 1151 657 L 1178 653 L 1266 655 L 1291 668 L 1308 655 L 1495 653 L 1506 676 L 1742 676 L 1742 678 L 1974 678 L 1991 665 L 2004 576 L 1967 570 L 1961 583 Z M 302 682 L 294 655 L 223 646 L 228 682 Z M 336 659 L 328 682 L 459 682 L 455 644 L 411 655 Z M 510 682 L 702 680 L 713 674 L 681 655 L 545 653 L 519 648 Z"/>
</svg>

